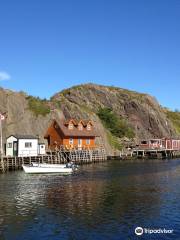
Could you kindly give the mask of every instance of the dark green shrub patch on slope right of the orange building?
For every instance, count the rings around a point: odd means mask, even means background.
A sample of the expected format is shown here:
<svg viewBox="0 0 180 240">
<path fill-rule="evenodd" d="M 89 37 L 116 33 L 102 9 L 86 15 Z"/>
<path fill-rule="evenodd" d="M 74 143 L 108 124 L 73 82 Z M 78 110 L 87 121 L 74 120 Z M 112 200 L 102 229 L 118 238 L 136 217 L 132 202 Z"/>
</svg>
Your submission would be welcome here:
<svg viewBox="0 0 180 240">
<path fill-rule="evenodd" d="M 110 108 L 100 108 L 97 115 L 113 136 L 117 138 L 133 138 L 135 136 L 133 129 L 126 120 L 120 119 Z"/>
</svg>

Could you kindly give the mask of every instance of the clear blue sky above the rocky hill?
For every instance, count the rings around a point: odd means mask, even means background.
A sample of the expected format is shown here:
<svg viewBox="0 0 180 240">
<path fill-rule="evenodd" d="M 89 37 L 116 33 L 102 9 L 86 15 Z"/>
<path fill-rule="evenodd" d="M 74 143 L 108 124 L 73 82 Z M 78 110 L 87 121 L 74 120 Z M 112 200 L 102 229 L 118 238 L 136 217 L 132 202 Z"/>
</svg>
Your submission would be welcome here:
<svg viewBox="0 0 180 240">
<path fill-rule="evenodd" d="M 179 0 L 1 0 L 0 85 L 114 85 L 180 109 Z"/>
</svg>

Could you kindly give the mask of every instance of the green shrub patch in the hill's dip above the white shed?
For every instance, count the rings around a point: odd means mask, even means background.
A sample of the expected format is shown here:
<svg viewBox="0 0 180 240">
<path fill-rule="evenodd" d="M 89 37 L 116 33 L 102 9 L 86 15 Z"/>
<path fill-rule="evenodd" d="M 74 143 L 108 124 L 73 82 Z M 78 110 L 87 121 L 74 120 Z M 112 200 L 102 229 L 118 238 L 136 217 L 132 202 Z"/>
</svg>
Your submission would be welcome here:
<svg viewBox="0 0 180 240">
<path fill-rule="evenodd" d="M 28 96 L 29 109 L 36 115 L 46 116 L 50 113 L 50 107 L 46 99 L 40 99 L 39 97 Z"/>
</svg>

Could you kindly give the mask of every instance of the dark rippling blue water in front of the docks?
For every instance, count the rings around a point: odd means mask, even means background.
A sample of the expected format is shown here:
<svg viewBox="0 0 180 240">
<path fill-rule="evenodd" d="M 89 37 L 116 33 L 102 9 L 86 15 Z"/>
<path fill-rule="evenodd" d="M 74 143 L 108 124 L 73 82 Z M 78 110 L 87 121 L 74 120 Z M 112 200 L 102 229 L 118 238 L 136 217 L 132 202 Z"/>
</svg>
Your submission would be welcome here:
<svg viewBox="0 0 180 240">
<path fill-rule="evenodd" d="M 174 232 L 137 237 L 137 226 Z M 180 239 L 180 160 L 86 165 L 69 176 L 1 174 L 0 239 Z"/>
</svg>

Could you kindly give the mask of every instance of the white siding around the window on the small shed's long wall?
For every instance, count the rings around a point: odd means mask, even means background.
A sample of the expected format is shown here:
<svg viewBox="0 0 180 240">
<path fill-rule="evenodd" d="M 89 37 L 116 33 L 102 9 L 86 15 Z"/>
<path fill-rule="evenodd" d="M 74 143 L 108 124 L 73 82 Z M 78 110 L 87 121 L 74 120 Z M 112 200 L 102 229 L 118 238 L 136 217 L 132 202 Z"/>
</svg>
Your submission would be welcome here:
<svg viewBox="0 0 180 240">
<path fill-rule="evenodd" d="M 31 143 L 31 147 L 25 147 L 25 143 Z M 18 157 L 37 156 L 38 139 L 19 139 Z"/>
</svg>

